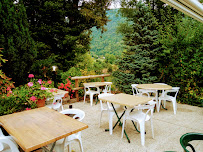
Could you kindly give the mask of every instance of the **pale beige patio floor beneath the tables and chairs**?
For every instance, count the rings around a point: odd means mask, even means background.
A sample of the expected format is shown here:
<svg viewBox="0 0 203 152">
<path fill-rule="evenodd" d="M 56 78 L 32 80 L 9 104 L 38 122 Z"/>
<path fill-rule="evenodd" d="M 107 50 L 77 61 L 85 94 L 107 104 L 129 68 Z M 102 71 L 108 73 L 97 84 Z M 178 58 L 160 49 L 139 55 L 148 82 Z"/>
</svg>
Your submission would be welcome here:
<svg viewBox="0 0 203 152">
<path fill-rule="evenodd" d="M 85 111 L 83 122 L 89 128 L 82 131 L 84 152 L 182 152 L 180 137 L 187 132 L 203 133 L 203 108 L 178 104 L 177 114 L 173 114 L 172 103 L 167 102 L 168 110 L 161 109 L 155 112 L 153 117 L 155 138 L 152 139 L 150 123 L 146 123 L 145 146 L 141 146 L 140 134 L 135 131 L 132 123 L 127 121 L 126 132 L 131 140 L 127 142 L 124 137 L 121 139 L 121 127 L 117 126 L 113 135 L 105 132 L 108 128 L 108 114 L 104 113 L 101 127 L 99 127 L 100 104 L 91 107 L 89 102 L 71 103 L 73 108 Z M 69 103 L 64 105 L 64 109 Z M 114 123 L 116 122 L 114 117 Z M 197 152 L 203 152 L 203 141 L 193 141 Z M 72 152 L 80 152 L 78 142 L 71 144 Z"/>
</svg>

